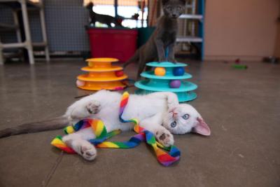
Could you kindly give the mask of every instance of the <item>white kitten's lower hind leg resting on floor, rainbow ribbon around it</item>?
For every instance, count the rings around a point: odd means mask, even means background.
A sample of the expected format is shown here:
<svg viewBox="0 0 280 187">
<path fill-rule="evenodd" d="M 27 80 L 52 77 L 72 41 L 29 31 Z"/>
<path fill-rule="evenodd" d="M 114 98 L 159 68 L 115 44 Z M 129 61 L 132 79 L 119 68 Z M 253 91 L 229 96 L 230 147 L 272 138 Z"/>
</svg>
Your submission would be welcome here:
<svg viewBox="0 0 280 187">
<path fill-rule="evenodd" d="M 87 141 L 94 138 L 95 135 L 92 132 L 92 128 L 89 127 L 79 130 L 78 132 L 65 135 L 62 137 L 62 141 L 64 141 L 67 146 L 73 148 L 73 150 L 85 158 L 85 160 L 94 160 L 97 156 L 97 150 L 92 144 L 90 144 L 89 141 Z"/>
</svg>

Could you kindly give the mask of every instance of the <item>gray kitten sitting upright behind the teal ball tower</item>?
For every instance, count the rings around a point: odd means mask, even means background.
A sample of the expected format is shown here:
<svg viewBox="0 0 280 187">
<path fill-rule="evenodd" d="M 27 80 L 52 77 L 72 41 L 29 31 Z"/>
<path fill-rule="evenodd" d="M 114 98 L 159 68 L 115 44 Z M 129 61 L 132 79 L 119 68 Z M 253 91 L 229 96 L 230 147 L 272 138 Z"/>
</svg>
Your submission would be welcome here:
<svg viewBox="0 0 280 187">
<path fill-rule="evenodd" d="M 158 26 L 145 45 L 130 58 L 124 67 L 132 62 L 138 62 L 137 79 L 147 62 L 176 62 L 174 45 L 178 31 L 177 18 L 185 11 L 186 0 L 162 0 L 164 15 L 158 21 Z M 168 51 L 168 55 L 165 52 Z"/>
</svg>

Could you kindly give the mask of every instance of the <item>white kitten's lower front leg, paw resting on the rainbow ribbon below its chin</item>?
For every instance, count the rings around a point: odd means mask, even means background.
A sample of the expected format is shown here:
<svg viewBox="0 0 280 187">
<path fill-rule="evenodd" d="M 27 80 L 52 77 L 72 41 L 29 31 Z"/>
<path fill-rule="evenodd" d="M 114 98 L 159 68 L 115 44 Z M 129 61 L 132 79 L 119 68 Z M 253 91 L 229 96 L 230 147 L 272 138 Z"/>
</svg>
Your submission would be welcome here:
<svg viewBox="0 0 280 187">
<path fill-rule="evenodd" d="M 160 144 L 167 147 L 174 144 L 173 135 L 162 126 L 162 113 L 157 113 L 155 116 L 141 120 L 139 125 L 152 132 Z"/>
</svg>

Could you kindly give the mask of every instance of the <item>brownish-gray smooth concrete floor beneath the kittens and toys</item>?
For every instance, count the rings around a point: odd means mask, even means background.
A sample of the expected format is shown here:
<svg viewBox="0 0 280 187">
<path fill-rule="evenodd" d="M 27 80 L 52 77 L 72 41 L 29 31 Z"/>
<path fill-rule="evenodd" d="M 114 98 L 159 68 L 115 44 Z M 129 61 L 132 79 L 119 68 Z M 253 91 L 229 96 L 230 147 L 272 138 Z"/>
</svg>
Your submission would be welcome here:
<svg viewBox="0 0 280 187">
<path fill-rule="evenodd" d="M 0 67 L 0 129 L 64 113 L 74 97 L 87 94 L 75 87 L 84 64 Z M 246 64 L 237 70 L 223 62 L 190 63 L 191 81 L 199 85 L 190 104 L 212 134 L 176 135 L 181 160 L 172 167 L 162 167 L 145 144 L 99 149 L 93 162 L 62 154 L 50 146 L 62 134 L 57 130 L 0 139 L 0 186 L 280 186 L 280 64 Z"/>
</svg>

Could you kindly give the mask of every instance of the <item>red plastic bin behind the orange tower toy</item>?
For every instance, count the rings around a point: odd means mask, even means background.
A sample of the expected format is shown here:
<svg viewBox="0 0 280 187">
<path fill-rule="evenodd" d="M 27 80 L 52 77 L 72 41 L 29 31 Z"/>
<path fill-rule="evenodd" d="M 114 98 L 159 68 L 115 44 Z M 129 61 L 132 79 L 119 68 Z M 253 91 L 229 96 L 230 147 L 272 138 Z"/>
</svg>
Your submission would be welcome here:
<svg viewBox="0 0 280 187">
<path fill-rule="evenodd" d="M 126 62 L 137 50 L 137 29 L 87 29 L 92 57 L 115 57 Z"/>
</svg>

